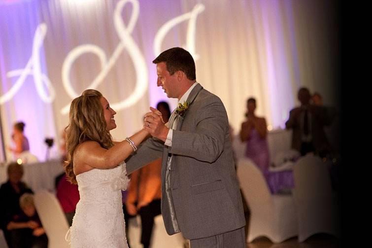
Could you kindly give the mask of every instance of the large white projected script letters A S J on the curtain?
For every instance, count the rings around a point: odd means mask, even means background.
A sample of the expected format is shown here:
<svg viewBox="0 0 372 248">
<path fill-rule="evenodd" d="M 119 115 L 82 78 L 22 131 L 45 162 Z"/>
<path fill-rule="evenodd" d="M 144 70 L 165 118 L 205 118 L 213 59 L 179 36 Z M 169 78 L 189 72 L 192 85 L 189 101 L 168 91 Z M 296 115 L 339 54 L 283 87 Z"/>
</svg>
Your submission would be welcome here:
<svg viewBox="0 0 372 248">
<path fill-rule="evenodd" d="M 127 3 L 132 4 L 132 15 L 130 17 L 128 25 L 126 26 L 123 19 L 121 18 L 121 12 L 125 4 Z M 161 44 L 163 42 L 163 39 L 173 27 L 175 27 L 176 25 L 183 21 L 189 20 L 185 49 L 192 54 L 195 60 L 197 60 L 199 56 L 196 54 L 195 51 L 196 20 L 198 15 L 202 13 L 203 10 L 204 5 L 198 3 L 197 5 L 194 6 L 192 11 L 177 16 L 169 20 L 167 23 L 165 23 L 155 35 L 153 47 L 154 55 L 157 56 L 161 52 Z M 121 0 L 117 3 L 114 10 L 113 21 L 117 35 L 120 38 L 120 42 L 115 48 L 110 58 L 107 59 L 106 54 L 101 49 L 101 47 L 93 44 L 79 45 L 73 48 L 68 53 L 62 66 L 62 82 L 66 92 L 68 93 L 68 96 L 71 99 L 79 96 L 79 94 L 73 89 L 71 80 L 69 78 L 71 67 L 73 66 L 75 60 L 77 60 L 81 55 L 85 53 L 93 53 L 97 55 L 97 57 L 100 60 L 101 71 L 97 74 L 97 76 L 94 78 L 91 84 L 87 87 L 87 89 L 88 88 L 95 89 L 101 84 L 102 80 L 107 76 L 107 73 L 114 67 L 115 62 L 118 60 L 118 57 L 120 56 L 124 49 L 126 49 L 128 54 L 130 55 L 133 61 L 133 65 L 135 67 L 136 73 L 135 89 L 129 97 L 122 100 L 121 102 L 112 104 L 112 107 L 115 110 L 120 110 L 132 106 L 136 102 L 138 102 L 138 100 L 143 96 L 148 86 L 148 71 L 146 69 L 145 59 L 131 36 L 135 28 L 135 23 L 137 22 L 138 16 L 139 16 L 138 0 Z M 8 71 L 6 73 L 7 77 L 11 78 L 18 76 L 18 79 L 5 94 L 0 96 L 0 104 L 3 104 L 11 100 L 23 85 L 25 79 L 30 75 L 34 77 L 34 84 L 37 90 L 37 94 L 42 99 L 42 101 L 44 101 L 45 103 L 52 103 L 54 101 L 56 94 L 53 84 L 51 83 L 48 76 L 41 71 L 40 67 L 39 51 L 45 38 L 46 32 L 47 32 L 46 24 L 45 23 L 39 24 L 34 34 L 32 55 L 30 60 L 26 64 L 25 68 Z M 44 90 L 44 88 L 46 90 Z M 69 105 L 63 107 L 61 109 L 61 113 L 67 114 L 68 110 Z"/>
</svg>

